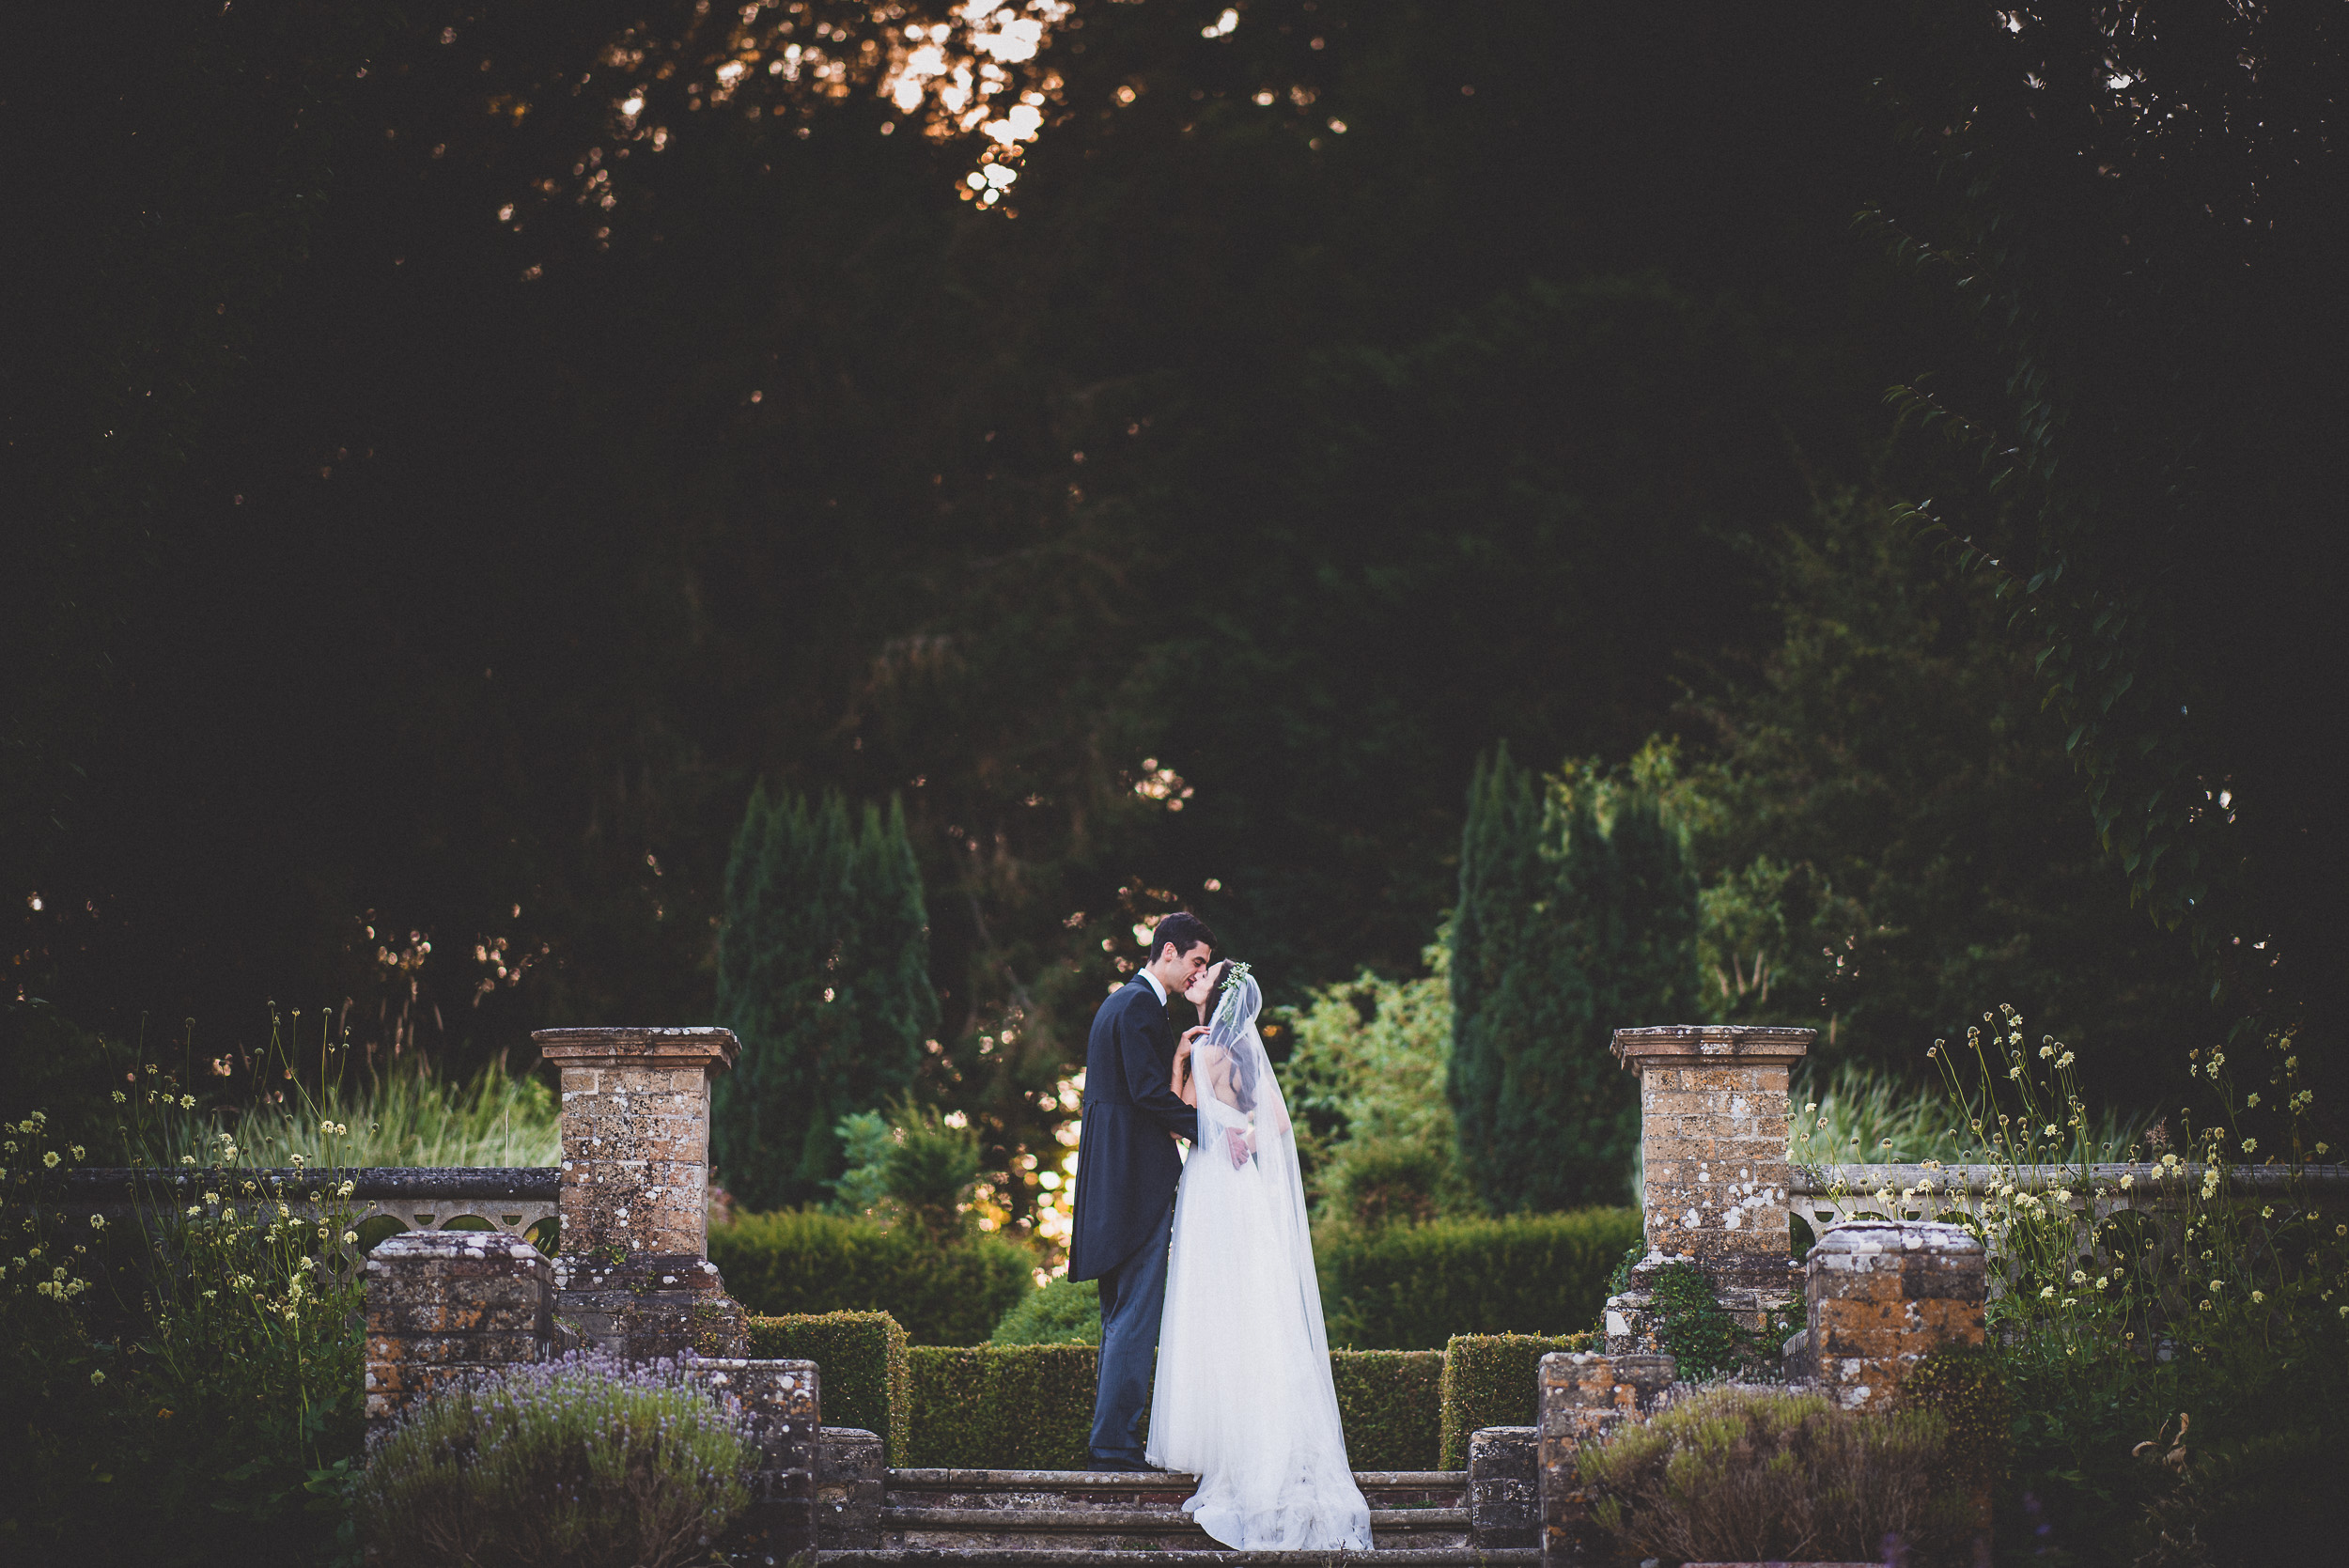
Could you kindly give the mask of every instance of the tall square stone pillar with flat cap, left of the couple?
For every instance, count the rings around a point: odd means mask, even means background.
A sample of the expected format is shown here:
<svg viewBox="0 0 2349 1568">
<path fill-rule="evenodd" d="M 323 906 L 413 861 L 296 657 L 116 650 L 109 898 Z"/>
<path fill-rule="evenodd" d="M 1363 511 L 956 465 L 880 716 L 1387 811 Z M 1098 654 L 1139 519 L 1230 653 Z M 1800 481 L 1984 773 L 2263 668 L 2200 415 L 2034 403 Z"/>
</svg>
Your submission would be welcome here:
<svg viewBox="0 0 2349 1568">
<path fill-rule="evenodd" d="M 630 1359 L 740 1357 L 738 1307 L 709 1263 L 709 1080 L 726 1028 L 543 1028 L 561 1070 L 554 1312 L 564 1345 Z"/>
</svg>

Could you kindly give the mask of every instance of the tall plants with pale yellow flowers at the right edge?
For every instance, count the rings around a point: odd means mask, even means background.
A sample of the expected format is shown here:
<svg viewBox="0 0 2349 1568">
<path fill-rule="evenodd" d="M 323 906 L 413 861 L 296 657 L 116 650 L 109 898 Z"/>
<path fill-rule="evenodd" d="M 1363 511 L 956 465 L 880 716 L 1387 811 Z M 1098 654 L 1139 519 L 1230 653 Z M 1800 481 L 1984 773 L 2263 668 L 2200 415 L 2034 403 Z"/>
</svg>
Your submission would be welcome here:
<svg viewBox="0 0 2349 1568">
<path fill-rule="evenodd" d="M 2015 1408 L 2008 1493 L 2030 1498 L 2034 1545 L 2081 1563 L 2112 1542 L 2147 1563 L 2318 1547 L 2300 1486 L 2349 1451 L 2349 1239 L 2302 1178 L 2330 1148 L 2297 1038 L 2196 1047 L 2206 1120 L 2163 1117 L 2126 1150 L 2152 1169 L 2119 1178 L 2086 1164 L 2105 1150 L 2077 1052 L 2034 1042 L 2018 1009 L 1933 1059 L 1980 1138 L 1968 1162 L 1997 1178 L 1959 1218 L 2006 1277 L 1990 1326 Z M 2123 1181 L 2154 1185 L 2159 1209 L 2098 1218 L 2098 1190 Z M 2018 1545 L 2022 1516 L 2001 1509 Z"/>
</svg>

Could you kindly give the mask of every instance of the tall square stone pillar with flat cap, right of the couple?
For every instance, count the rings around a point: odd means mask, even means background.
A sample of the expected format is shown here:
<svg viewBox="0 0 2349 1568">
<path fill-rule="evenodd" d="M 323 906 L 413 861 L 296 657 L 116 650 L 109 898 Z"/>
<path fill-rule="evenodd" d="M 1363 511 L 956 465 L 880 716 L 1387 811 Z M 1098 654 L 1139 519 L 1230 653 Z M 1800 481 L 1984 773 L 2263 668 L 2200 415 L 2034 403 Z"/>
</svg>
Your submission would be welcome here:
<svg viewBox="0 0 2349 1568">
<path fill-rule="evenodd" d="M 1802 1275 L 1785 1164 L 1785 1080 L 1811 1028 L 1670 1023 L 1618 1028 L 1614 1052 L 1640 1073 L 1647 1258 L 1607 1303 L 1609 1354 L 1658 1350 L 1647 1277 L 1696 1263 L 1722 1307 L 1752 1331 L 1792 1310 Z"/>
</svg>

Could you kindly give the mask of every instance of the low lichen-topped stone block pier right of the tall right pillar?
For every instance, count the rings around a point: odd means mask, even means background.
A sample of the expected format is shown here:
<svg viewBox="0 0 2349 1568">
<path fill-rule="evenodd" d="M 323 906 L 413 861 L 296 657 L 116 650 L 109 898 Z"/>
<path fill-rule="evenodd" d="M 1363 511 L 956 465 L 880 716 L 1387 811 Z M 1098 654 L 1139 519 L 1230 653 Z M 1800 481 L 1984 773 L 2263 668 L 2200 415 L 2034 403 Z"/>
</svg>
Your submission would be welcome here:
<svg viewBox="0 0 2349 1568">
<path fill-rule="evenodd" d="M 1802 1371 L 1846 1411 L 1889 1411 L 1900 1380 L 1943 1345 L 1980 1345 L 1983 1244 L 1959 1225 L 1849 1221 L 1806 1261 Z"/>
</svg>

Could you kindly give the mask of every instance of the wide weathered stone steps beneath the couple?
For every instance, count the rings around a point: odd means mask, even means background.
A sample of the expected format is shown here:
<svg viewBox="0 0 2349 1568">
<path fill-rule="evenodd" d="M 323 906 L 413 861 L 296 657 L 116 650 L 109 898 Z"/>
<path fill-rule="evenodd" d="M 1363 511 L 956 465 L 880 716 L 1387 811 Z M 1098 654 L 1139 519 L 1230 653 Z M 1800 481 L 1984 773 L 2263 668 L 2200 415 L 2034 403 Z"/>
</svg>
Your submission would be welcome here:
<svg viewBox="0 0 2349 1568">
<path fill-rule="evenodd" d="M 1470 1545 L 1468 1474 L 1355 1472 L 1369 1502 L 1372 1552 L 1231 1552 L 1182 1512 L 1191 1476 L 1062 1469 L 890 1469 L 879 1528 L 827 1530 L 824 1568 L 1083 1568 L 1184 1556 L 1198 1563 L 1529 1566 L 1539 1552 Z M 867 1514 L 869 1519 L 869 1514 Z M 846 1521 L 841 1521 L 846 1523 Z M 855 1545 L 843 1537 L 855 1537 Z M 829 1542 L 827 1542 L 829 1545 Z"/>
</svg>

